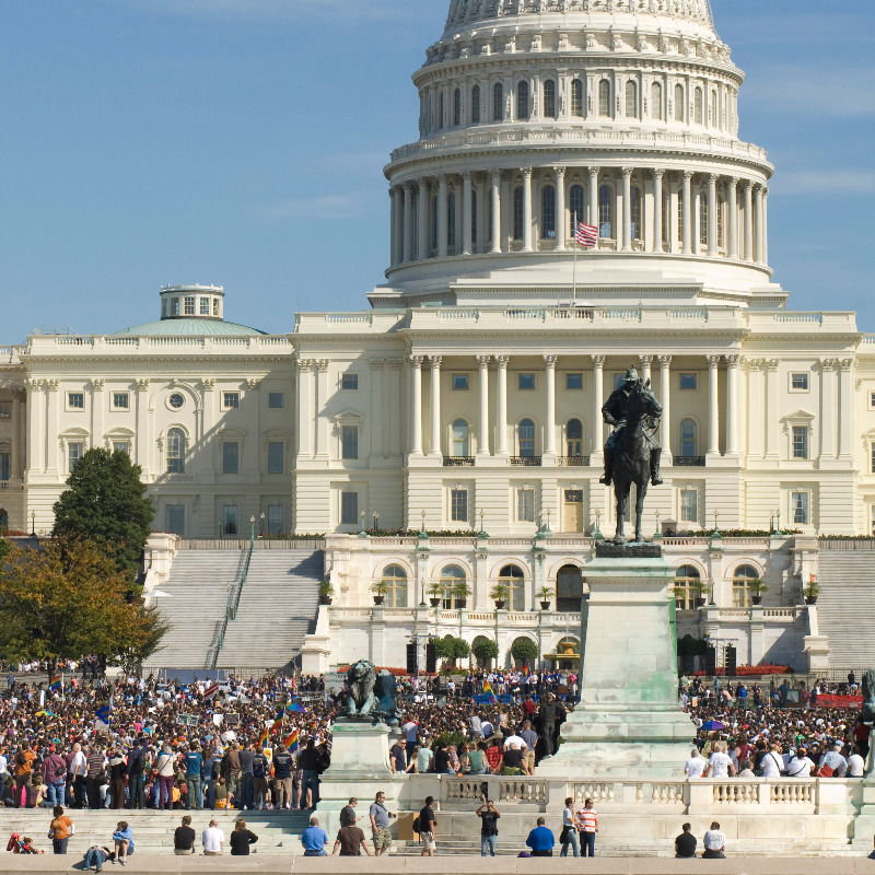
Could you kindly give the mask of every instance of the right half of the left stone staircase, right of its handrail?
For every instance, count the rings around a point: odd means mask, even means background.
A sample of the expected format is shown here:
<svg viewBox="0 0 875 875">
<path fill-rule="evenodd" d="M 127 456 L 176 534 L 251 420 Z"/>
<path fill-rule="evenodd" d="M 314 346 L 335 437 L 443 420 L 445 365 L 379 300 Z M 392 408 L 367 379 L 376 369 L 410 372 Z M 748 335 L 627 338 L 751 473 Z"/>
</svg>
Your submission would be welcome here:
<svg viewBox="0 0 875 875">
<path fill-rule="evenodd" d="M 324 565 L 322 550 L 254 550 L 217 666 L 281 668 L 292 662 L 315 623 Z"/>
</svg>

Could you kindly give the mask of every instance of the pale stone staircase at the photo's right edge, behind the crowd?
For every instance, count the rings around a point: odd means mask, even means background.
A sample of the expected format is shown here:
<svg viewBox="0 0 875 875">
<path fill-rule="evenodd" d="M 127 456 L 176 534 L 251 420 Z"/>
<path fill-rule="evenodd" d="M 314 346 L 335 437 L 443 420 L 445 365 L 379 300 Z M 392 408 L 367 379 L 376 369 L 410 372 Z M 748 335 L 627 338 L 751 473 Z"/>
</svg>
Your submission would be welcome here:
<svg viewBox="0 0 875 875">
<path fill-rule="evenodd" d="M 817 619 L 820 634 L 829 637 L 829 664 L 851 669 L 858 679 L 875 666 L 875 550 L 849 549 L 854 541 L 822 541 L 818 562 L 820 595 Z M 867 546 L 867 545 L 866 545 Z"/>
</svg>

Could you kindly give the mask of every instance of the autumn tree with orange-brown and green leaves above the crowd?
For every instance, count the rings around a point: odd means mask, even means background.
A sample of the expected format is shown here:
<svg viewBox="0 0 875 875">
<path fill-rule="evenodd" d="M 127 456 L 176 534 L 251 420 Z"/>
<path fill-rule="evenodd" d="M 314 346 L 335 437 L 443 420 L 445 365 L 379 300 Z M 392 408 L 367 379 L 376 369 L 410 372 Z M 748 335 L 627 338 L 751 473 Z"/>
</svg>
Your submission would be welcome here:
<svg viewBox="0 0 875 875">
<path fill-rule="evenodd" d="M 46 660 L 54 673 L 86 654 L 130 665 L 153 653 L 166 625 L 128 590 L 128 574 L 93 541 L 13 547 L 0 570 L 0 658 Z"/>
</svg>

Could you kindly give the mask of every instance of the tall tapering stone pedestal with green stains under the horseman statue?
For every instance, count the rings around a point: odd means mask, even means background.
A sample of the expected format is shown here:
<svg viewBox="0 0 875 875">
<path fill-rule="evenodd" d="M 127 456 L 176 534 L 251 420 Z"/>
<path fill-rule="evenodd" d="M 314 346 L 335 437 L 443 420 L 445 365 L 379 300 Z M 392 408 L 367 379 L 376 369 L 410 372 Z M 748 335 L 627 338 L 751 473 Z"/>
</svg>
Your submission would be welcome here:
<svg viewBox="0 0 875 875">
<path fill-rule="evenodd" d="M 655 545 L 606 547 L 609 556 L 582 569 L 590 598 L 581 702 L 538 775 L 681 775 L 696 728 L 677 697 L 674 568 Z"/>
</svg>

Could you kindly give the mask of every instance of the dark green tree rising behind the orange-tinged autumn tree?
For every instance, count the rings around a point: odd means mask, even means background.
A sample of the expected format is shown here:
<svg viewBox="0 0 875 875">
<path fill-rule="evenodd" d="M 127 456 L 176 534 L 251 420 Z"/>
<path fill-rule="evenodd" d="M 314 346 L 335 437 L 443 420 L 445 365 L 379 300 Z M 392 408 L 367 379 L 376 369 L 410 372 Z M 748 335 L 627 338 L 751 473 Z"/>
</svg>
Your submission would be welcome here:
<svg viewBox="0 0 875 875">
<path fill-rule="evenodd" d="M 128 587 L 140 570 L 155 509 L 140 481 L 142 468 L 127 453 L 89 450 L 67 478 L 55 504 L 55 537 L 91 540 L 126 572 Z"/>
</svg>

